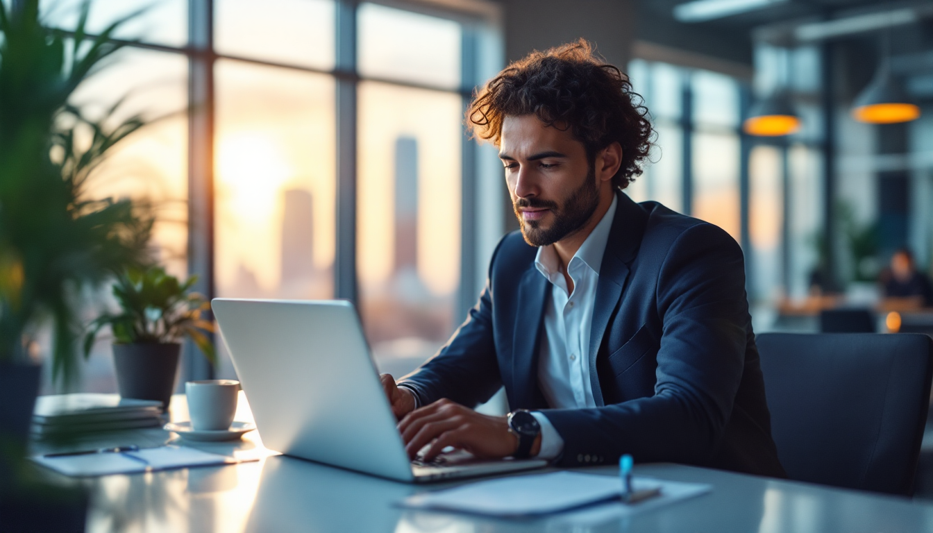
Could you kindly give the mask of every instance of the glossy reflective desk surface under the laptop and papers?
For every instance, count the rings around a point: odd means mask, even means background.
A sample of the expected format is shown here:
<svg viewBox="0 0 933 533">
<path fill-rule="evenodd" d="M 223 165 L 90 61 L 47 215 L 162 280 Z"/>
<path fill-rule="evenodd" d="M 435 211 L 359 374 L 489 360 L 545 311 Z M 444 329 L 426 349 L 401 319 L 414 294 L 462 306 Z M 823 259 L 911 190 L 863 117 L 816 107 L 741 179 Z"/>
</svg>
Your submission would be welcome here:
<svg viewBox="0 0 933 533">
<path fill-rule="evenodd" d="M 183 396 L 174 397 L 172 411 L 174 420 L 187 419 Z M 250 419 L 248 405 L 241 401 L 237 420 Z M 173 437 L 161 429 L 135 430 L 75 446 L 86 449 L 89 445 L 158 445 Z M 229 467 L 68 480 L 67 483 L 86 484 L 91 489 L 89 533 L 933 531 L 930 503 L 670 464 L 638 465 L 635 473 L 713 484 L 713 492 L 631 518 L 622 518 L 620 504 L 615 503 L 518 521 L 413 512 L 399 509 L 394 503 L 415 492 L 450 484 L 400 484 L 276 456 L 262 447 L 255 431 L 248 433 L 243 442 L 201 443 L 196 447 L 222 454 L 257 456 L 259 460 Z M 35 451 L 47 450 L 36 446 Z M 616 474 L 606 467 L 580 470 Z"/>
</svg>

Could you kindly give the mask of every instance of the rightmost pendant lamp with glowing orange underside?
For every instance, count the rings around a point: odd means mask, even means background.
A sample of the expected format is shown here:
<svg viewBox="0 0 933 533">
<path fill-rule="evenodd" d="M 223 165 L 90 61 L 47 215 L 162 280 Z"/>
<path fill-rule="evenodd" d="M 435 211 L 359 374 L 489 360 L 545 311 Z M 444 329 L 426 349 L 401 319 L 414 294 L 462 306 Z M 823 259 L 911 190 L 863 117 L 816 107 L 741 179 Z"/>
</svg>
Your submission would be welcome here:
<svg viewBox="0 0 933 533">
<path fill-rule="evenodd" d="M 852 107 L 852 117 L 870 124 L 893 124 L 920 118 L 920 107 L 913 104 L 891 76 L 885 59 L 868 87 L 857 97 Z"/>
</svg>

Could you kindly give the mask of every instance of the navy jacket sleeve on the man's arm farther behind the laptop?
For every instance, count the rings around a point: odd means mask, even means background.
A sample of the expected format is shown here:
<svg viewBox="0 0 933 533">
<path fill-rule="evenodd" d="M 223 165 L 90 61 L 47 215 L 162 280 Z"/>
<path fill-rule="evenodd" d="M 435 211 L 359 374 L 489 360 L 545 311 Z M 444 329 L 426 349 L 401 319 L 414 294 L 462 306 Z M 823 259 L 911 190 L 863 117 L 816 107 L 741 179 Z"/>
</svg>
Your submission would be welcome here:
<svg viewBox="0 0 933 533">
<path fill-rule="evenodd" d="M 414 372 L 398 381 L 418 395 L 420 405 L 446 398 L 475 407 L 493 397 L 502 386 L 493 337 L 493 271 L 495 258 L 505 238 L 496 245 L 490 260 L 486 287 L 453 336 Z"/>
</svg>

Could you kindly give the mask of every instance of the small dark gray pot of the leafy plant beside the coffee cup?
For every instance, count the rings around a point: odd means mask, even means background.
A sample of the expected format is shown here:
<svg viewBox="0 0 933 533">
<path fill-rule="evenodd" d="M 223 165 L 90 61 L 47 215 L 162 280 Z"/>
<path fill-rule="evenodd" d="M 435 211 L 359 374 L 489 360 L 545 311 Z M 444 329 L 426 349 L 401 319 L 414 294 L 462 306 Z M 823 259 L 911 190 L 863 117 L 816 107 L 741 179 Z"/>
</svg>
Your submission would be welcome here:
<svg viewBox="0 0 933 533">
<path fill-rule="evenodd" d="M 123 398 L 159 400 L 169 408 L 181 344 L 114 344 L 117 387 Z"/>
</svg>

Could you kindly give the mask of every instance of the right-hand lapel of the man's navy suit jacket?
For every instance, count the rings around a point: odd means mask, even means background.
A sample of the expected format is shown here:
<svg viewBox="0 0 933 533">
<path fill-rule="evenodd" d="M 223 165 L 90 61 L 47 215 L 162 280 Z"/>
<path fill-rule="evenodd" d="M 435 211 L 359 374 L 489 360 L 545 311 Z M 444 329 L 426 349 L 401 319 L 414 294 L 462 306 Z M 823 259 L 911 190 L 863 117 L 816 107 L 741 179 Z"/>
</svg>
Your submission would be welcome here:
<svg viewBox="0 0 933 533">
<path fill-rule="evenodd" d="M 596 373 L 596 356 L 603 336 L 609 327 L 609 319 L 620 302 L 622 288 L 629 276 L 629 263 L 638 253 L 648 215 L 634 203 L 627 194 L 618 192 L 619 204 L 616 217 L 612 221 L 612 230 L 606 241 L 606 251 L 599 268 L 599 280 L 596 282 L 596 299 L 593 302 L 592 326 L 590 329 L 590 384 L 592 396 L 597 406 L 603 406 L 603 390 L 599 386 Z"/>
</svg>

